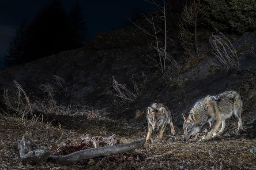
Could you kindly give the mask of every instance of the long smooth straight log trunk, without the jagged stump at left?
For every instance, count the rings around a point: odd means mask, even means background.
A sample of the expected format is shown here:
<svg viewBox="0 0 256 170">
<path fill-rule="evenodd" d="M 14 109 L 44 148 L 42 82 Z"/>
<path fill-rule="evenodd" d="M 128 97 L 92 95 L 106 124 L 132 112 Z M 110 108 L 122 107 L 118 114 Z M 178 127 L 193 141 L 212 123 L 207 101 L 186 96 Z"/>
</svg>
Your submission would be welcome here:
<svg viewBox="0 0 256 170">
<path fill-rule="evenodd" d="M 75 164 L 83 159 L 96 158 L 100 156 L 110 156 L 122 152 L 131 151 L 134 149 L 142 148 L 146 142 L 146 139 L 138 139 L 124 144 L 105 146 L 100 148 L 91 148 L 73 152 L 69 155 L 53 156 L 50 155 L 46 162 L 59 163 L 60 165 Z"/>
</svg>

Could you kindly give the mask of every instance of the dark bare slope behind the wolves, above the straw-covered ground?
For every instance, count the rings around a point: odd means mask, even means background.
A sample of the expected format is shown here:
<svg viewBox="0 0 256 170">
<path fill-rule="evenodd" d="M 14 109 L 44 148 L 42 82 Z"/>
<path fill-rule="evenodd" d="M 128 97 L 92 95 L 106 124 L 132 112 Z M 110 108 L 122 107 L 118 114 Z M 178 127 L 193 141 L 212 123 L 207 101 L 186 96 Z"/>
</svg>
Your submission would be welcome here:
<svg viewBox="0 0 256 170">
<path fill-rule="evenodd" d="M 142 55 L 154 55 L 148 47 L 110 50 L 80 48 L 1 71 L 1 90 L 15 90 L 15 80 L 31 100 L 37 98 L 40 101 L 45 96 L 38 87 L 54 83 L 53 75 L 56 75 L 63 78 L 67 86 L 68 95 L 57 99 L 61 105 L 67 106 L 71 102 L 78 109 L 92 106 L 109 112 L 111 119 L 132 119 L 136 110 L 144 111 L 151 102 L 157 101 L 167 105 L 180 124 L 181 112 L 187 112 L 196 100 L 205 95 L 237 90 L 246 101 L 248 96 L 243 86 L 249 79 L 255 78 L 256 56 L 251 52 L 251 47 L 255 46 L 255 34 L 245 33 L 233 42 L 241 62 L 241 71 L 238 72 L 213 71 L 212 57 L 209 56 L 173 78 L 162 76 L 157 69 L 147 66 L 148 59 Z M 181 54 L 182 51 L 176 55 Z M 121 102 L 113 89 L 113 77 L 118 83 L 125 83 L 133 93 L 133 82 L 136 82 L 140 90 L 139 98 L 133 103 Z"/>
</svg>

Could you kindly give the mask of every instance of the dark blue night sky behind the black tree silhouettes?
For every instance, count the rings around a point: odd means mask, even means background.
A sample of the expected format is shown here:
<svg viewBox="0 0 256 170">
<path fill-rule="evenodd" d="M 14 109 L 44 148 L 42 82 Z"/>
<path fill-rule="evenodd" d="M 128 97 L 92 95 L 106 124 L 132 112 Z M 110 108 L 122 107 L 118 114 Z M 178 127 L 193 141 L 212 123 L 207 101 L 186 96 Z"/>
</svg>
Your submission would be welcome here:
<svg viewBox="0 0 256 170">
<path fill-rule="evenodd" d="M 0 0 L 0 68 L 3 57 L 12 40 L 16 28 L 26 19 L 30 23 L 41 9 L 52 0 Z M 83 8 L 87 22 L 87 39 L 96 33 L 109 31 L 122 25 L 134 11 L 151 11 L 151 4 L 143 0 L 60 0 L 69 13 L 76 2 Z"/>
</svg>

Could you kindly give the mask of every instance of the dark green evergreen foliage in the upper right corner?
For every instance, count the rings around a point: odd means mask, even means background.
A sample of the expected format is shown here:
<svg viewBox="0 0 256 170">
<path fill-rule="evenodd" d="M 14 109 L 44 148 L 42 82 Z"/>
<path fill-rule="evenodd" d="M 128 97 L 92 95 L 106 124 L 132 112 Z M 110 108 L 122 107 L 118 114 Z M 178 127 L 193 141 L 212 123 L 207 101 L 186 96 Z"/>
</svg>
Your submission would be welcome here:
<svg viewBox="0 0 256 170">
<path fill-rule="evenodd" d="M 239 33 L 256 29 L 255 0 L 204 0 L 209 23 L 219 30 Z"/>
</svg>

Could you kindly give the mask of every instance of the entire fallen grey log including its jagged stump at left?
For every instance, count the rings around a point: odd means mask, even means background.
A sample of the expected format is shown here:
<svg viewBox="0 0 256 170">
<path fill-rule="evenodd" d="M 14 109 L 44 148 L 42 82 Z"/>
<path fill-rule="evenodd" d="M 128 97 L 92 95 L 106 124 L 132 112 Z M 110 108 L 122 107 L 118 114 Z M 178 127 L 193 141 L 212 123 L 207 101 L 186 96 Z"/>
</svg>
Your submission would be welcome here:
<svg viewBox="0 0 256 170">
<path fill-rule="evenodd" d="M 110 156 L 142 148 L 146 142 L 146 139 L 143 138 L 124 144 L 90 148 L 73 152 L 69 155 L 54 156 L 52 155 L 53 152 L 47 152 L 42 149 L 38 149 L 38 147 L 32 141 L 31 137 L 31 134 L 25 132 L 22 140 L 19 140 L 14 144 L 14 147 L 19 149 L 19 155 L 22 163 L 28 163 L 30 165 L 35 165 L 42 162 L 59 163 L 60 165 L 71 165 L 82 161 L 83 159 Z"/>
</svg>

